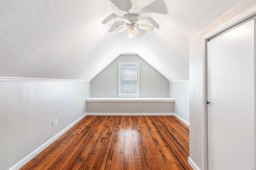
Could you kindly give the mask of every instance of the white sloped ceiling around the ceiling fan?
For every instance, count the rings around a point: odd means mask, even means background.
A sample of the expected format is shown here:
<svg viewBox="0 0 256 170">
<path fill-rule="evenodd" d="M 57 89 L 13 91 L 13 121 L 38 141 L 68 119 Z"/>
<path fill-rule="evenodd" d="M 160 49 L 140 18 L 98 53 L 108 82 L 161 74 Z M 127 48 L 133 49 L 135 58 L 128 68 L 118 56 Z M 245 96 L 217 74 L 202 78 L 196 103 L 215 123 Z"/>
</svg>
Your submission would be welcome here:
<svg viewBox="0 0 256 170">
<path fill-rule="evenodd" d="M 188 80 L 189 37 L 238 2 L 1 0 L 0 75 L 90 81 L 120 54 L 135 53 L 170 81 Z M 112 32 L 107 25 L 127 13 L 159 29 L 132 39 Z"/>
</svg>

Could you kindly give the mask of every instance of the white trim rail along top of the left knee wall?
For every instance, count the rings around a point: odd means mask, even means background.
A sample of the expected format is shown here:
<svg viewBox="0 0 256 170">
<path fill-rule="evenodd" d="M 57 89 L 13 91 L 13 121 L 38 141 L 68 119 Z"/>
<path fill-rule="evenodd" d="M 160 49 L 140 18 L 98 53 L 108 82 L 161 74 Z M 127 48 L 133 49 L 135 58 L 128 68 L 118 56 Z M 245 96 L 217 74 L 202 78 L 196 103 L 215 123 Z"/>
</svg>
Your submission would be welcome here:
<svg viewBox="0 0 256 170">
<path fill-rule="evenodd" d="M 87 81 L 87 80 L 45 79 L 45 78 L 30 78 L 30 77 L 0 77 L 0 81 L 71 81 L 71 82 L 90 82 L 90 81 Z"/>
</svg>

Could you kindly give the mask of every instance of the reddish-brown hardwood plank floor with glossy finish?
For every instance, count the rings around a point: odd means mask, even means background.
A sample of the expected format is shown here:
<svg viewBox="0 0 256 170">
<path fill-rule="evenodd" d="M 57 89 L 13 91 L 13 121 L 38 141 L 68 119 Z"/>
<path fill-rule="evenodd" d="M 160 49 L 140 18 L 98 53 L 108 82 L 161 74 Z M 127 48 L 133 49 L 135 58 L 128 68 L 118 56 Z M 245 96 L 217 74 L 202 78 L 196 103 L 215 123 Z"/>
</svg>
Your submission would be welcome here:
<svg viewBox="0 0 256 170">
<path fill-rule="evenodd" d="M 22 170 L 192 170 L 189 128 L 173 116 L 86 116 Z"/>
</svg>

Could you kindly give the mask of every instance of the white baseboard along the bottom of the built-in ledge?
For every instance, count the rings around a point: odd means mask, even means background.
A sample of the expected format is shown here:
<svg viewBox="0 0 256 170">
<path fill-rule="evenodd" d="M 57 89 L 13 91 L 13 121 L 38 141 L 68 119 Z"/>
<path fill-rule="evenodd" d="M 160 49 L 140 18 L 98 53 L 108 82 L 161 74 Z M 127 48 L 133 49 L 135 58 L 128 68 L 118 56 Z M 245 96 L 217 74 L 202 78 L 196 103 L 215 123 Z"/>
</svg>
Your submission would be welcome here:
<svg viewBox="0 0 256 170">
<path fill-rule="evenodd" d="M 174 116 L 175 113 L 86 113 L 87 116 Z"/>
</svg>

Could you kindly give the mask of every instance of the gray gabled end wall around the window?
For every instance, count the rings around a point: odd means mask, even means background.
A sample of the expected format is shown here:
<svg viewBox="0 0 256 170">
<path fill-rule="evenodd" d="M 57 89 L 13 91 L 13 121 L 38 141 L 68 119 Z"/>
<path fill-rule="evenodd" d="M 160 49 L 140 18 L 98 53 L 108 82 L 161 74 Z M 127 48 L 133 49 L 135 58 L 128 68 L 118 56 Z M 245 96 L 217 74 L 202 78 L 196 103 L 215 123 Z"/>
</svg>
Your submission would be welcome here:
<svg viewBox="0 0 256 170">
<path fill-rule="evenodd" d="M 138 55 L 120 55 L 94 77 L 91 97 L 118 97 L 118 61 L 140 61 L 140 97 L 169 97 L 168 80 Z"/>
</svg>

